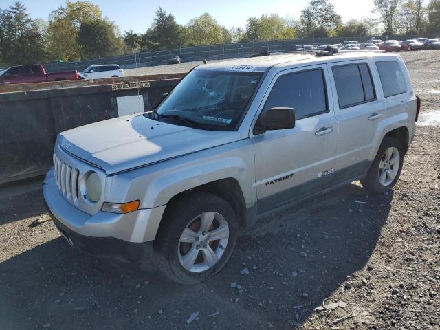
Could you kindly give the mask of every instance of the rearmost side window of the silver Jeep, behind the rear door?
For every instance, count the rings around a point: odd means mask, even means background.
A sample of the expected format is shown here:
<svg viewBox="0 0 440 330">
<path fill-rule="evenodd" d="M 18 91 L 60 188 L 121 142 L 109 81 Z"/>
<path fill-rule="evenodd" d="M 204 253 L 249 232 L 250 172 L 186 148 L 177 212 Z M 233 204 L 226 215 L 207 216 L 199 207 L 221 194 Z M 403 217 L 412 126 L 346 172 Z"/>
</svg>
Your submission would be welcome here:
<svg viewBox="0 0 440 330">
<path fill-rule="evenodd" d="M 404 73 L 397 61 L 380 61 L 376 67 L 386 98 L 406 92 Z"/>
</svg>

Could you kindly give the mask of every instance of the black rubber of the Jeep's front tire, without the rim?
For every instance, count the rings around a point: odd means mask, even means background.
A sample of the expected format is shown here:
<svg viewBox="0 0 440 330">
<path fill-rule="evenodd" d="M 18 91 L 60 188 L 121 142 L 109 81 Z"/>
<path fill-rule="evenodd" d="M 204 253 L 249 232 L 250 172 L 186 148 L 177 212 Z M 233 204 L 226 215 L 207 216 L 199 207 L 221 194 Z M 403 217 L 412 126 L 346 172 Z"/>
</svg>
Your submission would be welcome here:
<svg viewBox="0 0 440 330">
<path fill-rule="evenodd" d="M 203 272 L 190 272 L 181 265 L 178 251 L 179 239 L 186 228 L 204 212 L 217 212 L 223 216 L 229 227 L 228 244 L 223 254 L 212 267 Z M 237 219 L 230 204 L 217 195 L 194 192 L 168 206 L 155 240 L 155 251 L 159 269 L 171 280 L 182 284 L 195 284 L 210 278 L 228 262 L 237 239 Z M 203 254 L 201 254 L 203 256 Z"/>
</svg>

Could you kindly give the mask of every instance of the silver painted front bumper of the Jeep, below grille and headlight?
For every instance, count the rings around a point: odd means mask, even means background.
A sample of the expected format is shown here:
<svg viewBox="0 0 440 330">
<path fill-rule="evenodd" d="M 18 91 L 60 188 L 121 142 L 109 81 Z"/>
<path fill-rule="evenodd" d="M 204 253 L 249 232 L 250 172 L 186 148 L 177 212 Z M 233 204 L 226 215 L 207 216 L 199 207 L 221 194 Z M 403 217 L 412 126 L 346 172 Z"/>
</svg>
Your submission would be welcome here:
<svg viewBox="0 0 440 330">
<path fill-rule="evenodd" d="M 50 170 L 43 181 L 47 208 L 61 226 L 80 236 L 112 238 L 129 243 L 144 243 L 155 239 L 165 206 L 142 209 L 126 214 L 98 211 L 87 214 L 69 203 L 59 192 Z"/>
</svg>

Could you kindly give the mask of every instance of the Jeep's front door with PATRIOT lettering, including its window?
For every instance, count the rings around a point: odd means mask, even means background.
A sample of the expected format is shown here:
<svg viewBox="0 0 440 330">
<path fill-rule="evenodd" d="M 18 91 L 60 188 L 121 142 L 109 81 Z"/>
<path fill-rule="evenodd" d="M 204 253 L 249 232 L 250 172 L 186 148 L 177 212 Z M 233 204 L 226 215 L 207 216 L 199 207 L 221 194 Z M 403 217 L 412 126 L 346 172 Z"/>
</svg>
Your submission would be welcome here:
<svg viewBox="0 0 440 330">
<path fill-rule="evenodd" d="M 293 129 L 251 134 L 259 213 L 331 186 L 338 122 L 327 86 L 327 67 L 321 65 L 289 69 L 272 81 L 262 111 L 292 107 L 296 122 Z"/>
</svg>

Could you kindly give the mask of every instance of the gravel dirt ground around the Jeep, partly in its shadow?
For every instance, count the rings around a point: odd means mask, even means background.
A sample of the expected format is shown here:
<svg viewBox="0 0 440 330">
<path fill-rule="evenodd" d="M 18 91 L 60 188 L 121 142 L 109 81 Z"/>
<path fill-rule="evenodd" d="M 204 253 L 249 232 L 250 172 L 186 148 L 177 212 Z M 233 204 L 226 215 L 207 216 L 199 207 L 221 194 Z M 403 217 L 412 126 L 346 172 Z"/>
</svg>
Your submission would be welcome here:
<svg viewBox="0 0 440 330">
<path fill-rule="evenodd" d="M 440 51 L 401 56 L 423 117 L 393 192 L 355 183 L 265 219 L 199 285 L 81 254 L 39 181 L 0 188 L 0 329 L 440 329 Z M 315 311 L 326 298 L 347 305 Z"/>
</svg>

